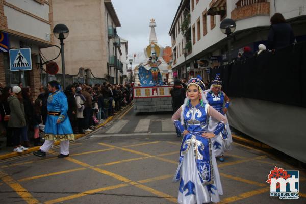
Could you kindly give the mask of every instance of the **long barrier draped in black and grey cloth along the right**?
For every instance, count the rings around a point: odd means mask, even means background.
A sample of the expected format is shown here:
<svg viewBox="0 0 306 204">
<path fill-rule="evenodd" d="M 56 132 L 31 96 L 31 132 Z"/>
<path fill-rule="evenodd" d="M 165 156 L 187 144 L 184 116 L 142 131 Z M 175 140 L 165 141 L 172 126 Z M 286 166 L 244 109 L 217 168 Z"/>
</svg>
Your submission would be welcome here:
<svg viewBox="0 0 306 204">
<path fill-rule="evenodd" d="M 231 98 L 231 126 L 306 163 L 306 42 L 212 69 Z"/>
</svg>

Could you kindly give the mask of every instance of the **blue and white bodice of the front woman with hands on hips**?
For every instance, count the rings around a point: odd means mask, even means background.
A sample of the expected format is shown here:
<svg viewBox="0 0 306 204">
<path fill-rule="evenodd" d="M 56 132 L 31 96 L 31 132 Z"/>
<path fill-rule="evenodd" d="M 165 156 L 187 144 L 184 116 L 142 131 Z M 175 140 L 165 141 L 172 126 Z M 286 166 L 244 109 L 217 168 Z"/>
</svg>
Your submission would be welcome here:
<svg viewBox="0 0 306 204">
<path fill-rule="evenodd" d="M 208 129 L 208 104 L 204 104 L 204 107 L 201 103 L 196 106 L 192 106 L 190 101 L 184 110 L 184 121 L 187 126 L 188 131 L 193 132 L 203 132 Z"/>
</svg>

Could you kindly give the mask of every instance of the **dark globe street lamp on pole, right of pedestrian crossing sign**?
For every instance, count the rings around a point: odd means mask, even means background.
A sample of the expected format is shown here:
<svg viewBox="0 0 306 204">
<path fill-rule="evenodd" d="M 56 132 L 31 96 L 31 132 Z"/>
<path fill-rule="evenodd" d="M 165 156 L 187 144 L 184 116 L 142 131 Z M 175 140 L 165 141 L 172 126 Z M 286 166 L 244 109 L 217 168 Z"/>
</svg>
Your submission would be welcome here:
<svg viewBox="0 0 306 204">
<path fill-rule="evenodd" d="M 65 80 L 65 54 L 64 54 L 64 39 L 69 35 L 69 29 L 64 24 L 57 24 L 53 29 L 54 36 L 60 40 L 61 45 L 61 57 L 62 57 L 62 74 L 63 74 L 63 89 L 66 87 Z"/>
</svg>

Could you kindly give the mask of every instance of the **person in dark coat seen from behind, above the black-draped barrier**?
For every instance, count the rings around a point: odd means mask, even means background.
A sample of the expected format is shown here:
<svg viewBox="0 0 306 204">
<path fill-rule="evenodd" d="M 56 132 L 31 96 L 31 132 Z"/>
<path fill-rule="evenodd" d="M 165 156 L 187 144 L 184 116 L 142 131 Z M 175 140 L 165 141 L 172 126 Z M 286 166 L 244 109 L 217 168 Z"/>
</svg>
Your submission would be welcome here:
<svg viewBox="0 0 306 204">
<path fill-rule="evenodd" d="M 275 13 L 271 19 L 271 27 L 268 35 L 268 48 L 279 49 L 294 43 L 294 34 L 291 26 L 286 23 L 281 13 Z"/>
</svg>

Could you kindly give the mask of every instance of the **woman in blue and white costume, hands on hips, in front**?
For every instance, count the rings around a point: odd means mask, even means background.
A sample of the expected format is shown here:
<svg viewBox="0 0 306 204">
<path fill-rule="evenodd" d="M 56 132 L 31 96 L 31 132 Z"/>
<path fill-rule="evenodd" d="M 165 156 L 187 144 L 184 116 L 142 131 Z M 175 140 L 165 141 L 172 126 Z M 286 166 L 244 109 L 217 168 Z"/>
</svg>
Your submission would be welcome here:
<svg viewBox="0 0 306 204">
<path fill-rule="evenodd" d="M 203 90 L 203 82 L 191 78 L 185 102 L 172 116 L 175 127 L 184 135 L 174 177 L 180 181 L 178 202 L 184 204 L 219 202 L 223 194 L 211 138 L 219 134 L 227 120 L 206 103 Z M 209 117 L 219 121 L 214 133 L 208 133 Z"/>
</svg>

